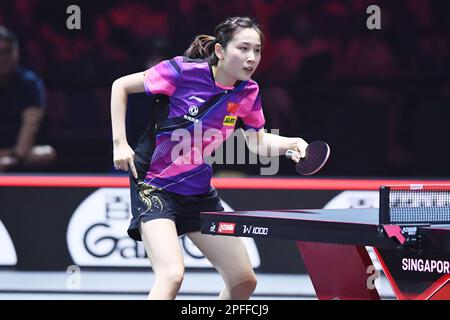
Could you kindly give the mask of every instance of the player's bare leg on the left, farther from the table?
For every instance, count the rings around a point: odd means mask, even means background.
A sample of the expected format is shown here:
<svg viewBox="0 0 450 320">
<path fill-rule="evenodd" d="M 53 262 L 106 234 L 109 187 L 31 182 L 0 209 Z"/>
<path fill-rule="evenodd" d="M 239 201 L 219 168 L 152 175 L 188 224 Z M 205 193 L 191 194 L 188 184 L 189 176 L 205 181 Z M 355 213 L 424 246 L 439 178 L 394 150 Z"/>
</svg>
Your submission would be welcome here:
<svg viewBox="0 0 450 320">
<path fill-rule="evenodd" d="M 155 219 L 140 224 L 142 241 L 155 274 L 149 299 L 175 299 L 184 276 L 184 261 L 175 223 Z"/>
</svg>

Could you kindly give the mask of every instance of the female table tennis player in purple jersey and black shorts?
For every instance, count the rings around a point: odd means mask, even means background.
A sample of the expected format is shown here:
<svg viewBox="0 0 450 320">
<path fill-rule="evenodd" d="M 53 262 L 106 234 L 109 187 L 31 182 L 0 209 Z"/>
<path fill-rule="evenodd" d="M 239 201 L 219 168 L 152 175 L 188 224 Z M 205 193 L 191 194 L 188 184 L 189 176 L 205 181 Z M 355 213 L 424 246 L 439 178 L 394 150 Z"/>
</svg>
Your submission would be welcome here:
<svg viewBox="0 0 450 320">
<path fill-rule="evenodd" d="M 176 297 L 184 275 L 178 241 L 183 234 L 223 277 L 225 287 L 219 298 L 247 299 L 255 290 L 256 277 L 242 240 L 199 231 L 201 211 L 223 210 L 210 184 L 212 169 L 203 159 L 207 154 L 199 149 L 209 148 L 210 154 L 218 146 L 218 138 L 225 140 L 240 118 L 253 152 L 276 156 L 291 149 L 305 153 L 308 144 L 303 139 L 263 129 L 258 84 L 251 79 L 262 46 L 263 34 L 253 20 L 229 18 L 215 28 L 214 36 L 197 36 L 184 56 L 113 83 L 114 165 L 130 172 L 132 219 L 128 234 L 144 242 L 155 273 L 150 299 Z M 158 114 L 132 150 L 125 133 L 127 95 L 144 91 L 158 95 Z M 202 133 L 215 130 L 216 139 L 202 134 L 200 146 L 188 141 L 188 152 L 173 152 L 180 144 L 179 139 L 172 139 L 175 132 L 182 129 L 193 134 L 195 128 Z"/>
</svg>

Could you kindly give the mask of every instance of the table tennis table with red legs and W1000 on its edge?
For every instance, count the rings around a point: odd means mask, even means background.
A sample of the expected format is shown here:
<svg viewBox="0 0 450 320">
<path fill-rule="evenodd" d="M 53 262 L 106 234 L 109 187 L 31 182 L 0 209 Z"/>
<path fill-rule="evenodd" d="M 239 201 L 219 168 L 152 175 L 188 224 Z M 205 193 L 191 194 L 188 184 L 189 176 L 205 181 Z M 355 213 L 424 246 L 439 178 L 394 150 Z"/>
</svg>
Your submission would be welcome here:
<svg viewBox="0 0 450 320">
<path fill-rule="evenodd" d="M 201 225 L 205 234 L 296 241 L 319 299 L 380 299 L 366 246 L 398 299 L 450 299 L 450 225 L 396 235 L 377 208 L 202 212 Z"/>
</svg>

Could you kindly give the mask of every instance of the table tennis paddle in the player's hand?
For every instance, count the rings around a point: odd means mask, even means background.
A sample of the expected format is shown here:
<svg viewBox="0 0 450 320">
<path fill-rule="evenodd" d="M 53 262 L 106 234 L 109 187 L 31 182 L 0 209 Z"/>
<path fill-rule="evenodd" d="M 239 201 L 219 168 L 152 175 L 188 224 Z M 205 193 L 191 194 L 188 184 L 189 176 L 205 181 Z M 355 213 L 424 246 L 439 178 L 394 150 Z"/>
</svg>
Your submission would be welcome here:
<svg viewBox="0 0 450 320">
<path fill-rule="evenodd" d="M 330 156 L 330 151 L 328 144 L 317 140 L 308 144 L 304 158 L 301 158 L 300 153 L 294 150 L 286 151 L 286 157 L 288 159 L 300 159 L 295 169 L 301 175 L 309 176 L 322 169 Z"/>
</svg>

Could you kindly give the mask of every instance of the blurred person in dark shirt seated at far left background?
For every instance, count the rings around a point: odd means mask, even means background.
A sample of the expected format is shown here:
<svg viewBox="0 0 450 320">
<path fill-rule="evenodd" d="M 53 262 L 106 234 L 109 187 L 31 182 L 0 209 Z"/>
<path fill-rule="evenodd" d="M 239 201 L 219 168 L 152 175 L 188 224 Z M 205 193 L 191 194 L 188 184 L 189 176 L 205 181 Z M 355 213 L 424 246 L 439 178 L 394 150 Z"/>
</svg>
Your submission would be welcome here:
<svg viewBox="0 0 450 320">
<path fill-rule="evenodd" d="M 35 169 L 56 158 L 51 146 L 35 145 L 45 112 L 44 85 L 18 60 L 17 37 L 0 26 L 0 172 Z"/>
</svg>

